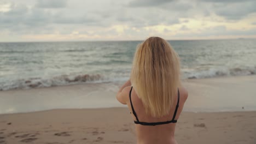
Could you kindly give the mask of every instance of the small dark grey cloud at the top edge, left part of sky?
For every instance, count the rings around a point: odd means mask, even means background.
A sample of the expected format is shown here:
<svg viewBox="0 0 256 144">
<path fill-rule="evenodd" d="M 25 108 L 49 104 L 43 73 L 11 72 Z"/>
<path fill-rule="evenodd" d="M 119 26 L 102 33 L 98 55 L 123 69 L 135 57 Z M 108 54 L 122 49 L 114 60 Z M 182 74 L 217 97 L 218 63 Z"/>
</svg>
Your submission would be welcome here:
<svg viewBox="0 0 256 144">
<path fill-rule="evenodd" d="M 36 7 L 38 8 L 65 8 L 67 0 L 38 0 Z"/>
</svg>

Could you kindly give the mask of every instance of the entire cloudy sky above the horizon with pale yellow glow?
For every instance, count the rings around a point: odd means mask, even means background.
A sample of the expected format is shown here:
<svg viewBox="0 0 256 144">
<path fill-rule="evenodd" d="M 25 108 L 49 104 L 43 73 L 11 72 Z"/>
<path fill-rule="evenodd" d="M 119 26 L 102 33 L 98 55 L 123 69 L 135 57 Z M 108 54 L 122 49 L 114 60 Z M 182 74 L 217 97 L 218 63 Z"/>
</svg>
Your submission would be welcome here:
<svg viewBox="0 0 256 144">
<path fill-rule="evenodd" d="M 0 0 L 0 41 L 256 38 L 255 0 Z"/>
</svg>

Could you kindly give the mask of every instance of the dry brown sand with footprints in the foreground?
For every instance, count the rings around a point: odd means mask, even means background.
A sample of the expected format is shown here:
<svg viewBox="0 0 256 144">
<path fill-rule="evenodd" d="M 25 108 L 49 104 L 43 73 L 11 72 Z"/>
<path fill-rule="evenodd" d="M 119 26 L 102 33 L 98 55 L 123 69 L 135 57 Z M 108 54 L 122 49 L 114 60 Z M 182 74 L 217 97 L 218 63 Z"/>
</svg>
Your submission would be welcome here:
<svg viewBox="0 0 256 144">
<path fill-rule="evenodd" d="M 178 143 L 256 142 L 256 111 L 182 112 Z M 2 143 L 136 143 L 127 108 L 64 109 L 0 115 Z"/>
</svg>

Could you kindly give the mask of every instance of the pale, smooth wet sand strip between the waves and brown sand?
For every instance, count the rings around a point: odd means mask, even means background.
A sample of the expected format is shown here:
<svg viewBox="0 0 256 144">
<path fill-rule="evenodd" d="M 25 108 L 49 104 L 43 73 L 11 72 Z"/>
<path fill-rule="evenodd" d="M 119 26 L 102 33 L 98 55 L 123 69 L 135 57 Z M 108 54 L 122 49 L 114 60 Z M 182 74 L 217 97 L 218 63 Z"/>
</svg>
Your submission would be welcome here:
<svg viewBox="0 0 256 144">
<path fill-rule="evenodd" d="M 256 75 L 189 79 L 182 83 L 189 92 L 184 111 L 256 111 Z M 86 83 L 1 91 L 0 113 L 125 107 L 115 99 L 115 94 L 122 84 Z"/>
</svg>

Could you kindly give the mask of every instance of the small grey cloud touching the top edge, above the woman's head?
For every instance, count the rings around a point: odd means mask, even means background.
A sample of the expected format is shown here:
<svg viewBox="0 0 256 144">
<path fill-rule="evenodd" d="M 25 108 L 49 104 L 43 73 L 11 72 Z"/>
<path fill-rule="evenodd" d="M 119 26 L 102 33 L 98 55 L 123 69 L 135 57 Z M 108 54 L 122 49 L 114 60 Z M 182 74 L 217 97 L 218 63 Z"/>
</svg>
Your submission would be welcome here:
<svg viewBox="0 0 256 144">
<path fill-rule="evenodd" d="M 170 3 L 174 0 L 133 0 L 128 6 L 129 7 L 155 7 L 161 4 Z"/>
</svg>

